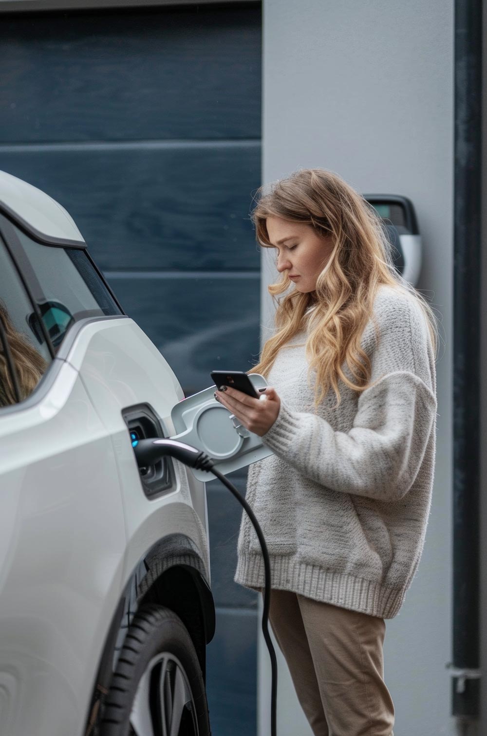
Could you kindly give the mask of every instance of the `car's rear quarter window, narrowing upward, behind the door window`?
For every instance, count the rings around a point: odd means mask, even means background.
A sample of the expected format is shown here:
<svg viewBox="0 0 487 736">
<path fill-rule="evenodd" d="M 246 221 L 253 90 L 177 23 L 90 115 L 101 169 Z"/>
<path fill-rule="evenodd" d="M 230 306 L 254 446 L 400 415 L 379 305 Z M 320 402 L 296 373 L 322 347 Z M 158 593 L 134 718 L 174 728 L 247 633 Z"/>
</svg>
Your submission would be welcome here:
<svg viewBox="0 0 487 736">
<path fill-rule="evenodd" d="M 43 294 L 38 306 L 55 349 L 74 322 L 122 314 L 84 250 L 37 243 L 16 226 L 15 233 Z M 34 316 L 32 329 L 38 327 Z"/>
</svg>

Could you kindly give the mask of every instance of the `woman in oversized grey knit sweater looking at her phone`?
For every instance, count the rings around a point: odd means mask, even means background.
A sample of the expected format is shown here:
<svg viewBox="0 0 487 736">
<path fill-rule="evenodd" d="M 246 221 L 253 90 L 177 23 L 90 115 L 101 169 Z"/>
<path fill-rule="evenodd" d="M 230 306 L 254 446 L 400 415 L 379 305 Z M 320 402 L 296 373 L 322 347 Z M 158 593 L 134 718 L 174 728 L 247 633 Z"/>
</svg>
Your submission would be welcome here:
<svg viewBox="0 0 487 736">
<path fill-rule="evenodd" d="M 435 316 L 337 174 L 304 169 L 259 195 L 257 240 L 283 275 L 268 288 L 284 294 L 249 371 L 267 378 L 267 400 L 215 396 L 273 450 L 247 484 L 270 554 L 270 623 L 315 736 L 393 736 L 382 645 L 430 512 Z M 245 514 L 234 579 L 264 587 Z"/>
</svg>

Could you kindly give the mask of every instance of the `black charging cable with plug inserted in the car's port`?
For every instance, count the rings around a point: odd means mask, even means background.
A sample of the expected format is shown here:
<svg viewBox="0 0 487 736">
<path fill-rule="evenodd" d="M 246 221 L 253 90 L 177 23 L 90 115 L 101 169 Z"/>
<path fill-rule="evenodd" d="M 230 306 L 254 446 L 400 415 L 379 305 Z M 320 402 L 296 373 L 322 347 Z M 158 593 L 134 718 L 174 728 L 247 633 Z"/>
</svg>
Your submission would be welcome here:
<svg viewBox="0 0 487 736">
<path fill-rule="evenodd" d="M 267 545 L 265 543 L 264 534 L 259 526 L 259 522 L 253 514 L 252 509 L 248 505 L 245 498 L 237 491 L 237 488 L 225 478 L 225 475 L 220 473 L 214 467 L 214 461 L 203 453 L 203 450 L 197 450 L 196 447 L 186 445 L 184 442 L 179 442 L 176 439 L 139 439 L 132 442 L 133 451 L 136 453 L 136 460 L 139 467 L 147 467 L 153 465 L 155 462 L 161 459 L 164 455 L 170 455 L 175 459 L 181 461 L 183 464 L 189 467 L 195 467 L 198 470 L 207 470 L 209 473 L 214 473 L 220 481 L 227 486 L 228 490 L 233 493 L 237 501 L 243 506 L 245 512 L 252 523 L 253 528 L 256 530 L 257 537 L 259 538 L 260 546 L 262 549 L 262 556 L 264 557 L 264 573 L 265 573 L 265 587 L 264 587 L 264 610 L 262 612 L 262 633 L 264 634 L 264 640 L 267 644 L 267 649 L 270 655 L 270 667 L 271 667 L 271 687 L 270 687 L 270 735 L 276 736 L 276 699 L 277 699 L 277 660 L 276 652 L 274 651 L 273 643 L 270 639 L 268 629 L 268 618 L 269 618 L 269 604 L 270 604 L 270 562 L 269 553 L 267 552 Z"/>
</svg>

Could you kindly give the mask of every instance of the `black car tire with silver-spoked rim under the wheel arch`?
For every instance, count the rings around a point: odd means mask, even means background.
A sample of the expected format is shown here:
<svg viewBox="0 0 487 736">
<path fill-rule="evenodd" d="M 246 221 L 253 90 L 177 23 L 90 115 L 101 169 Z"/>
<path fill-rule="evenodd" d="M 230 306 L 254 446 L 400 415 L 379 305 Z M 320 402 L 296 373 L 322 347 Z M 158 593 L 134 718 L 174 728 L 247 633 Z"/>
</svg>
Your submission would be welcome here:
<svg viewBox="0 0 487 736">
<path fill-rule="evenodd" d="M 166 733 L 210 736 L 206 690 L 195 646 L 181 618 L 163 606 L 147 604 L 127 631 L 99 735 Z"/>
</svg>

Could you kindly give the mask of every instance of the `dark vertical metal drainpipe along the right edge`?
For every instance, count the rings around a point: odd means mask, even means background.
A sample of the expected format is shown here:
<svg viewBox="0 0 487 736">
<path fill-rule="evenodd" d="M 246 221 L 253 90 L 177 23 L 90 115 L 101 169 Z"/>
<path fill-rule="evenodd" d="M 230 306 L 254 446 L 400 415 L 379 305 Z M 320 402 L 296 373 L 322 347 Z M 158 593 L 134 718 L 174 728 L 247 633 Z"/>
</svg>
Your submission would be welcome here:
<svg viewBox="0 0 487 736">
<path fill-rule="evenodd" d="M 480 709 L 482 0 L 455 0 L 453 631 L 451 714 Z"/>
</svg>

